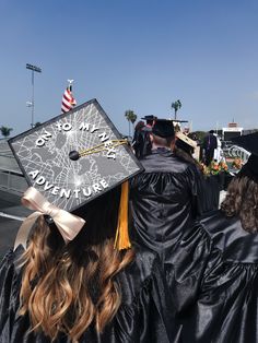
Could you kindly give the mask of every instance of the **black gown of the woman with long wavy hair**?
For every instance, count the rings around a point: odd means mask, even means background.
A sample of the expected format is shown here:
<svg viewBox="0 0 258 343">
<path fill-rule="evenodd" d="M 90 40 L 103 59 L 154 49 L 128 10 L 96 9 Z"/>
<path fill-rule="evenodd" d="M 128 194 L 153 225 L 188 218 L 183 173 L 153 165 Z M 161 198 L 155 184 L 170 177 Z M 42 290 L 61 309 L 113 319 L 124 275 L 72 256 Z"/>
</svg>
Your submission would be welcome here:
<svg viewBox="0 0 258 343">
<path fill-rule="evenodd" d="M 21 270 L 15 261 L 21 246 L 10 250 L 0 265 L 0 342 L 50 343 L 43 333 L 28 332 L 28 316 L 19 316 Z M 80 342 L 172 342 L 169 297 L 160 272 L 159 258 L 150 251 L 139 251 L 136 260 L 117 277 L 121 289 L 121 306 L 105 332 L 97 335 L 93 326 Z M 169 330 L 168 330 L 169 329 Z M 55 341 L 68 343 L 63 334 Z"/>
</svg>

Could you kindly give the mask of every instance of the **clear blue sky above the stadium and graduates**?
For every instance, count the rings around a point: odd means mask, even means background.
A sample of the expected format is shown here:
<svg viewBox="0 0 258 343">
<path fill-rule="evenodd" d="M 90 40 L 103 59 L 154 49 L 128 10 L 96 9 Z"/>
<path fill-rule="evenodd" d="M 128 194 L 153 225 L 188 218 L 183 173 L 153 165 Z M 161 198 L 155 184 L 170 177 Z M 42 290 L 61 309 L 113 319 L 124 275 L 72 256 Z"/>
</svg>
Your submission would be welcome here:
<svg viewBox="0 0 258 343">
<path fill-rule="evenodd" d="M 60 114 L 67 79 L 78 104 L 97 98 L 128 132 L 125 110 L 173 116 L 194 130 L 234 120 L 258 128 L 257 0 L 0 0 L 0 126 Z"/>
</svg>

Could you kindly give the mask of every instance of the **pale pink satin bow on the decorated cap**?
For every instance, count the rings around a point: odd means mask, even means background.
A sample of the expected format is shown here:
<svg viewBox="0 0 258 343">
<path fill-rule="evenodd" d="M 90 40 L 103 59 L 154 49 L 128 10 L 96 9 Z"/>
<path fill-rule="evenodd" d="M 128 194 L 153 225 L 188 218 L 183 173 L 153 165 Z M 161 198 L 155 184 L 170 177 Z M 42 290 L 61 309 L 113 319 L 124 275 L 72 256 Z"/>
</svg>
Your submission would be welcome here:
<svg viewBox="0 0 258 343">
<path fill-rule="evenodd" d="M 14 244 L 14 250 L 20 244 L 23 246 L 26 244 L 26 241 L 24 241 L 26 239 L 24 238 L 27 238 L 33 224 L 39 215 L 47 214 L 51 216 L 66 244 L 74 239 L 85 224 L 83 218 L 51 204 L 34 187 L 30 187 L 25 191 L 22 197 L 22 204 L 36 212 L 28 215 L 20 227 Z"/>
</svg>

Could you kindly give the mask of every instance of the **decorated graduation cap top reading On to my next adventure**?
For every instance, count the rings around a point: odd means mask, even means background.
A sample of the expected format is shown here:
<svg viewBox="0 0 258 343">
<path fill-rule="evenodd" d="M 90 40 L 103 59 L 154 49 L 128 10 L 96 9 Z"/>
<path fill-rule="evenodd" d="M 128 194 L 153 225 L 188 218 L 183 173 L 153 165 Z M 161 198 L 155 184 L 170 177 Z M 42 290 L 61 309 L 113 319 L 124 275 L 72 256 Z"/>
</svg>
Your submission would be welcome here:
<svg viewBox="0 0 258 343">
<path fill-rule="evenodd" d="M 142 170 L 96 99 L 9 144 L 28 185 L 70 212 Z"/>
</svg>

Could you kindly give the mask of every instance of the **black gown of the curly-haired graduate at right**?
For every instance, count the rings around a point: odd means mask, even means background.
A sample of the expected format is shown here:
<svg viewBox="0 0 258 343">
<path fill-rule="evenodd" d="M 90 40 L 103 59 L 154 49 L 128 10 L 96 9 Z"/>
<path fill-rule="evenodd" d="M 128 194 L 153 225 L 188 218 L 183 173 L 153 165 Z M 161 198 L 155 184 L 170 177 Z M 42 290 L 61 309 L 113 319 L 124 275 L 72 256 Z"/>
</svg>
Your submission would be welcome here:
<svg viewBox="0 0 258 343">
<path fill-rule="evenodd" d="M 215 211 L 178 243 L 174 258 L 173 341 L 258 342 L 258 235 Z"/>
</svg>

